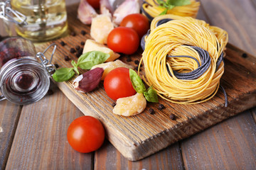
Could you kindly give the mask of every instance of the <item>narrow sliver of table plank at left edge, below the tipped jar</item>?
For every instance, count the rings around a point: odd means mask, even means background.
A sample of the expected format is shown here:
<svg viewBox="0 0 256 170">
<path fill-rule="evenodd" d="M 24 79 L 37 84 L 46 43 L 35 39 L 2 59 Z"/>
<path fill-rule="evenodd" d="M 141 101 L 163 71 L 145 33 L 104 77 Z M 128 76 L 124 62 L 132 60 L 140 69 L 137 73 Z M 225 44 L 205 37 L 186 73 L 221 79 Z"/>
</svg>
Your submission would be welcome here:
<svg viewBox="0 0 256 170">
<path fill-rule="evenodd" d="M 0 169 L 6 166 L 21 108 L 9 101 L 0 102 Z"/>
</svg>

